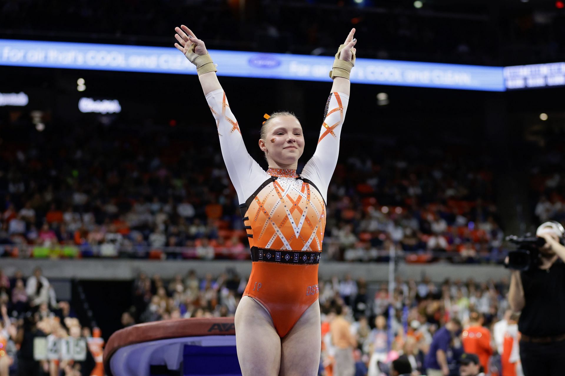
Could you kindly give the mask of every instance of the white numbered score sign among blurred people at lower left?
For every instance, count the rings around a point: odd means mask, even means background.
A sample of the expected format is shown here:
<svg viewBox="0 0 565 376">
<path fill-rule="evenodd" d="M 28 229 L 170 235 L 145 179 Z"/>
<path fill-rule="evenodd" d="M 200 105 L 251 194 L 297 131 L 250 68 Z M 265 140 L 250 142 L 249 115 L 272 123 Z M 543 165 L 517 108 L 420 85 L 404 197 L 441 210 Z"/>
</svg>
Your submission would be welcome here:
<svg viewBox="0 0 565 376">
<path fill-rule="evenodd" d="M 86 339 L 56 338 L 53 335 L 33 340 L 34 360 L 86 360 Z"/>
</svg>

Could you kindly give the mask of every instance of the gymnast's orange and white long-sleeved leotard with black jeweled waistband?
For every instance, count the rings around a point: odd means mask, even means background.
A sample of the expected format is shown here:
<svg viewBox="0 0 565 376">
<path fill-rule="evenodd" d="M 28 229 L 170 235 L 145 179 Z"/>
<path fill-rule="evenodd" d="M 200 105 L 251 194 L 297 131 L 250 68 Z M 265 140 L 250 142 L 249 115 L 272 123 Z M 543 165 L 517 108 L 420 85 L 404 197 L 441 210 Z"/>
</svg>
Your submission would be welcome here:
<svg viewBox="0 0 565 376">
<path fill-rule="evenodd" d="M 329 96 L 318 146 L 301 176 L 295 170 L 264 171 L 247 152 L 224 91 L 212 91 L 206 100 L 216 119 L 221 153 L 251 247 L 253 264 L 244 295 L 267 308 L 282 338 L 318 299 L 325 199 L 349 96 Z"/>
</svg>

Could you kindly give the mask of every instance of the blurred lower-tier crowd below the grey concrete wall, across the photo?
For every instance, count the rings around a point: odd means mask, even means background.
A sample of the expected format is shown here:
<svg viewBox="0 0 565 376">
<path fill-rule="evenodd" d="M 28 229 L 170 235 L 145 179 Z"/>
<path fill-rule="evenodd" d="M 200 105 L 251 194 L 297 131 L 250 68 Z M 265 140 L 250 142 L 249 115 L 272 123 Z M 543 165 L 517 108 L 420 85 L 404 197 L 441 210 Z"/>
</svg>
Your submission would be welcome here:
<svg viewBox="0 0 565 376">
<path fill-rule="evenodd" d="M 131 306 L 121 313 L 121 326 L 175 318 L 233 317 L 246 283 L 247 276 L 240 276 L 233 269 L 215 276 L 206 274 L 204 278 L 189 270 L 170 281 L 158 274 L 150 277 L 140 273 L 131 284 L 128 299 Z M 466 351 L 466 330 L 478 325 L 488 331 L 485 366 L 490 367 L 492 375 L 502 375 L 503 342 L 509 336 L 505 330 L 510 321 L 517 320 L 510 315 L 508 289 L 507 278 L 484 283 L 473 279 L 433 283 L 427 277 L 420 281 L 398 277 L 392 286 L 355 280 L 349 275 L 320 281 L 323 335 L 320 375 L 331 375 L 335 366 L 338 334 L 332 331 L 332 322 L 336 318 L 347 322 L 357 362 L 356 375 L 367 372 L 380 375 L 377 361 L 383 362 L 381 368 L 384 368 L 403 355 L 410 358 L 412 368 L 417 371 L 414 374 L 425 374 L 425 356 L 433 336 L 450 321 L 461 325 L 450 344 L 450 374 L 459 375 L 460 356 Z M 5 351 L 0 356 L 2 376 L 22 369 L 29 374 L 54 374 L 49 373 L 53 369 L 65 376 L 99 374 L 103 344 L 100 330 L 85 324 L 92 325 L 88 317 L 81 322 L 72 305 L 56 298 L 41 269 L 37 268 L 27 278 L 20 272 L 14 276 L 0 272 L 0 303 L 0 343 Z M 117 313 L 109 308 L 105 311 Z M 505 325 L 503 330 L 494 329 L 501 322 Z M 47 336 L 85 338 L 89 343 L 88 357 L 82 362 L 34 361 L 34 338 Z M 484 355 L 485 350 L 474 352 Z"/>
</svg>

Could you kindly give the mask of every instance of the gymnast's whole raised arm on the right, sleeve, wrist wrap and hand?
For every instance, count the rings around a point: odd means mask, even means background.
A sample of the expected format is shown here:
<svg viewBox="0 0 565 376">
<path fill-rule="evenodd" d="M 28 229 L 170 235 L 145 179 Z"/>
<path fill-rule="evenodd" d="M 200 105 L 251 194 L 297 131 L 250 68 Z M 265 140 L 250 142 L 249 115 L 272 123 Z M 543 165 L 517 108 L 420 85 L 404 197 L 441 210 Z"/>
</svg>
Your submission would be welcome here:
<svg viewBox="0 0 565 376">
<path fill-rule="evenodd" d="M 344 44 L 336 54 L 330 77 L 332 91 L 325 105 L 324 121 L 321 126 L 318 146 L 312 158 L 302 170 L 302 176 L 314 182 L 320 193 L 327 198 L 329 181 L 336 168 L 340 152 L 341 128 L 349 103 L 349 72 L 355 63 L 355 29 L 351 29 Z"/>
</svg>

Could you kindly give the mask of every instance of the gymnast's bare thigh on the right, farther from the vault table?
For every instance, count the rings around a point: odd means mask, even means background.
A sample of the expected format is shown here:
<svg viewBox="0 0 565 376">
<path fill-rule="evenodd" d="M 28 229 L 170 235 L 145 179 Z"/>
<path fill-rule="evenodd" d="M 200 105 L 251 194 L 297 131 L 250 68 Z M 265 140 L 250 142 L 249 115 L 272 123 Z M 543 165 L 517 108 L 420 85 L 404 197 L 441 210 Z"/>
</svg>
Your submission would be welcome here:
<svg viewBox="0 0 565 376">
<path fill-rule="evenodd" d="M 316 376 L 320 366 L 320 303 L 316 300 L 282 339 L 280 376 Z"/>
</svg>

